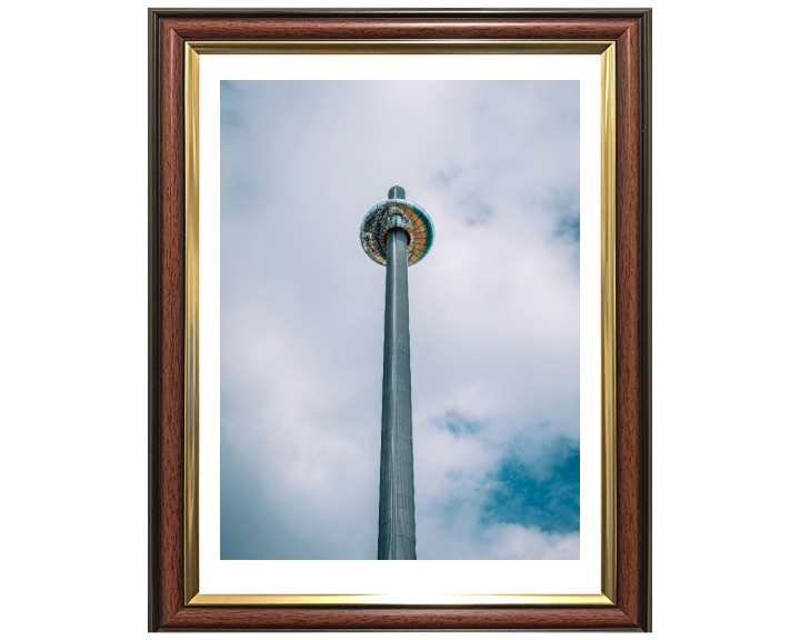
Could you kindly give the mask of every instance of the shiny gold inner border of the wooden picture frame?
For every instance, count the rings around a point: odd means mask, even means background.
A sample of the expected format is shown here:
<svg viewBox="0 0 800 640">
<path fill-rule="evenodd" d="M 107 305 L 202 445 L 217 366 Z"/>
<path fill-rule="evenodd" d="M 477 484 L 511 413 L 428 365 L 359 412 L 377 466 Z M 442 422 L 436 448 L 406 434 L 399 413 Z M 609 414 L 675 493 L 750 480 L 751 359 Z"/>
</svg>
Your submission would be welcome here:
<svg viewBox="0 0 800 640">
<path fill-rule="evenodd" d="M 200 593 L 199 214 L 201 54 L 597 54 L 600 61 L 600 593 L 207 594 Z M 186 337 L 183 371 L 183 601 L 187 606 L 614 606 L 617 602 L 616 42 L 580 40 L 187 41 Z"/>
</svg>

